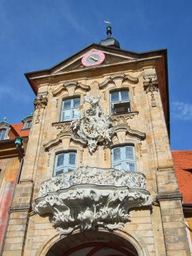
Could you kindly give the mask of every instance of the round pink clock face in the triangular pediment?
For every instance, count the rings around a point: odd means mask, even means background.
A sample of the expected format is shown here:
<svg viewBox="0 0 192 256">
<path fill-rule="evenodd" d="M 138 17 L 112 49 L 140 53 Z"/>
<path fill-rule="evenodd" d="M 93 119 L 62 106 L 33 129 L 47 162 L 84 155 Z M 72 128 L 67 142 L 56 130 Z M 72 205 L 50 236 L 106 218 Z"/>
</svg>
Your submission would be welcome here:
<svg viewBox="0 0 192 256">
<path fill-rule="evenodd" d="M 100 51 L 91 51 L 82 58 L 82 64 L 86 67 L 99 65 L 105 59 L 104 53 Z"/>
</svg>

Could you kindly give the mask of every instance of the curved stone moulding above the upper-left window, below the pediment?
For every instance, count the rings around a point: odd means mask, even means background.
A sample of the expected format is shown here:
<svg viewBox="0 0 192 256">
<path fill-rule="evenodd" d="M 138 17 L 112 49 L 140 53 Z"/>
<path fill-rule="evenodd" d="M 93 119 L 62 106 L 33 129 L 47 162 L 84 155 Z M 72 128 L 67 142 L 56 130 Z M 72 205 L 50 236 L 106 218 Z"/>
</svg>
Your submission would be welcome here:
<svg viewBox="0 0 192 256">
<path fill-rule="evenodd" d="M 63 85 L 59 86 L 59 88 L 53 90 L 52 94 L 55 97 L 55 96 L 61 94 L 61 92 L 63 92 L 63 90 L 67 90 L 67 92 L 69 92 L 69 95 L 72 95 L 73 92 L 77 88 L 80 88 L 83 91 L 90 90 L 90 86 L 87 86 L 86 84 L 82 84 L 81 82 L 77 82 L 77 81 L 69 81 L 69 82 L 65 82 Z"/>
</svg>

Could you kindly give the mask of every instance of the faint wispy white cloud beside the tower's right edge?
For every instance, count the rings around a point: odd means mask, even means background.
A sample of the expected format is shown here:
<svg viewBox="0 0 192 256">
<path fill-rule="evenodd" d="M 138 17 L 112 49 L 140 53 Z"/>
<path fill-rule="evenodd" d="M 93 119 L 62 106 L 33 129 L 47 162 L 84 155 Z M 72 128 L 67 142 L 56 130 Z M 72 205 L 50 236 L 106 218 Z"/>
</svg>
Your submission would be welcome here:
<svg viewBox="0 0 192 256">
<path fill-rule="evenodd" d="M 192 121 L 192 103 L 172 102 L 170 104 L 170 112 L 174 119 Z"/>
</svg>

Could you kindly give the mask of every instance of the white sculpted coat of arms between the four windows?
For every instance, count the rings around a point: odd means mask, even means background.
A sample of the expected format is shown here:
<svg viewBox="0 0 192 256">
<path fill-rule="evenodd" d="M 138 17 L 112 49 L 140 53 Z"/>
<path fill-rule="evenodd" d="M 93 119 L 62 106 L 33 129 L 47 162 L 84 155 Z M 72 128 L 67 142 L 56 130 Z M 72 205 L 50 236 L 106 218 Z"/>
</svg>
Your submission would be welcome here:
<svg viewBox="0 0 192 256">
<path fill-rule="evenodd" d="M 83 110 L 79 119 L 71 122 L 73 134 L 86 141 L 90 153 L 96 150 L 99 141 L 104 140 L 106 144 L 109 143 L 113 134 L 113 120 L 102 112 L 100 98 L 101 95 L 98 95 L 97 99 L 85 96 L 84 100 L 90 103 L 90 108 L 86 112 Z"/>
</svg>

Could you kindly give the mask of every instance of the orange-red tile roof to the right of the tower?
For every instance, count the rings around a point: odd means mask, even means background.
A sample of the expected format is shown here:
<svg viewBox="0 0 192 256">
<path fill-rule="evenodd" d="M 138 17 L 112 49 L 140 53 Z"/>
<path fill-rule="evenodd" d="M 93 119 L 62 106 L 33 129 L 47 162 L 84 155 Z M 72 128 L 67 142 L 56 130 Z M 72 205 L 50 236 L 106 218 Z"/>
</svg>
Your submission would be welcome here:
<svg viewBox="0 0 192 256">
<path fill-rule="evenodd" d="M 172 151 L 172 158 L 183 203 L 192 203 L 192 150 Z"/>
</svg>

